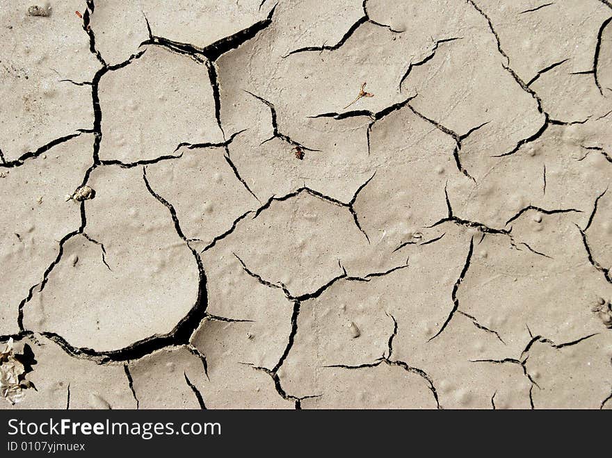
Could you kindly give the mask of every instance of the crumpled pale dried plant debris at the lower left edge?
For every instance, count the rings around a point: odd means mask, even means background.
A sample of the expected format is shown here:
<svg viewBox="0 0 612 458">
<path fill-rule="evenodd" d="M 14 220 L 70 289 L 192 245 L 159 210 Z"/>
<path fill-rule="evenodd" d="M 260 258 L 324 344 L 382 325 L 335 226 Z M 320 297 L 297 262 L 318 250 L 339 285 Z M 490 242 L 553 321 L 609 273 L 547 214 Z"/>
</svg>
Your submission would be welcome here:
<svg viewBox="0 0 612 458">
<path fill-rule="evenodd" d="M 14 345 L 13 338 L 0 343 L 0 395 L 11 404 L 23 399 L 24 390 L 35 389 L 34 384 L 26 379 L 36 363 L 31 347 L 26 344 L 22 354 L 17 354 Z"/>
</svg>

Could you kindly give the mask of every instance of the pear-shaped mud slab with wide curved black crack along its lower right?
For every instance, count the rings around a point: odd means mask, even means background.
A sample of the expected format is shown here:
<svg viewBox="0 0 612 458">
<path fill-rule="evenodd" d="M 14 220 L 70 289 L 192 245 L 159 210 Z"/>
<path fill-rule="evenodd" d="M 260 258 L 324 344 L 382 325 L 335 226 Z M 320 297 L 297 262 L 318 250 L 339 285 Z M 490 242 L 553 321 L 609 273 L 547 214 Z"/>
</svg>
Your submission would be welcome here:
<svg viewBox="0 0 612 458">
<path fill-rule="evenodd" d="M 96 197 L 85 204 L 84 234 L 66 241 L 46 288 L 26 304 L 26 328 L 99 352 L 171 332 L 200 303 L 197 255 L 141 167 L 98 168 L 88 185 Z"/>
</svg>

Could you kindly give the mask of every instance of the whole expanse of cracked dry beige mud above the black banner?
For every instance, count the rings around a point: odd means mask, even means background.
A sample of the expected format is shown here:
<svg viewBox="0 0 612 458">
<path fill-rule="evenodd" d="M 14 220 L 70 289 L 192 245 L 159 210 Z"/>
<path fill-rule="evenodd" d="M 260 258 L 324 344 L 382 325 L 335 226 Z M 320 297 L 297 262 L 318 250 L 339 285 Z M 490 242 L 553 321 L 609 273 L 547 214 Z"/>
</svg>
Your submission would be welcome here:
<svg viewBox="0 0 612 458">
<path fill-rule="evenodd" d="M 612 408 L 610 1 L 0 19 L 0 408 Z"/>
</svg>

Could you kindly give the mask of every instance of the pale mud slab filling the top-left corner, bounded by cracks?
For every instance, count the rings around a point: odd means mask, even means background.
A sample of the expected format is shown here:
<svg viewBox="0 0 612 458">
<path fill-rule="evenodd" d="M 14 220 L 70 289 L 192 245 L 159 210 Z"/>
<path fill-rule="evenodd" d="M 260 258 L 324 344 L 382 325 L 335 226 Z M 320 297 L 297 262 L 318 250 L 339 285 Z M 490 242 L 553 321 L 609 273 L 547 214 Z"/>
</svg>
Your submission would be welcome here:
<svg viewBox="0 0 612 458">
<path fill-rule="evenodd" d="M 46 3 L 46 2 L 40 2 Z M 89 50 L 83 2 L 55 2 L 47 16 L 31 1 L 0 1 L 0 156 L 15 161 L 78 129 L 91 129 L 91 81 L 100 64 Z"/>
</svg>

